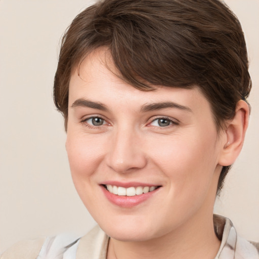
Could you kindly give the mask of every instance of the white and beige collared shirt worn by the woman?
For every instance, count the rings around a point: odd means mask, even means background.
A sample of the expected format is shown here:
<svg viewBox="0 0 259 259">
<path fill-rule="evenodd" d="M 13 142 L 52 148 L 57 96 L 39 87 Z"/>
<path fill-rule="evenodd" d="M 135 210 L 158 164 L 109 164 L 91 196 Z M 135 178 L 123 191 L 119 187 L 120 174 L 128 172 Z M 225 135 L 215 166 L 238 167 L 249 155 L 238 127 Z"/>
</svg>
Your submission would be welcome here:
<svg viewBox="0 0 259 259">
<path fill-rule="evenodd" d="M 239 237 L 229 219 L 214 215 L 213 220 L 215 233 L 222 240 L 215 259 L 259 259 L 259 243 Z M 96 226 L 79 239 L 60 235 L 23 242 L 8 249 L 0 259 L 106 259 L 108 244 L 109 237 Z"/>
</svg>

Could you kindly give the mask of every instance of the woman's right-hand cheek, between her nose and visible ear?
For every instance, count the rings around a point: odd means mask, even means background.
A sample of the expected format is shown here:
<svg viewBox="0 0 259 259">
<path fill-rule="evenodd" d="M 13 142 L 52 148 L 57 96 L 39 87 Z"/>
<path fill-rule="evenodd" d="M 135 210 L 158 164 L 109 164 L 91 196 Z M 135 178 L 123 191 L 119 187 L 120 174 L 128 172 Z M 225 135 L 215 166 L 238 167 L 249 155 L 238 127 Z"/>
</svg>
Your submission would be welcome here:
<svg viewBox="0 0 259 259">
<path fill-rule="evenodd" d="M 170 179 L 169 183 L 175 186 L 173 190 L 185 188 L 185 191 L 195 189 L 197 192 L 197 189 L 208 186 L 217 166 L 214 143 L 214 135 L 195 137 L 188 134 L 160 139 L 159 145 L 153 143 L 147 150 L 154 163 Z"/>
</svg>

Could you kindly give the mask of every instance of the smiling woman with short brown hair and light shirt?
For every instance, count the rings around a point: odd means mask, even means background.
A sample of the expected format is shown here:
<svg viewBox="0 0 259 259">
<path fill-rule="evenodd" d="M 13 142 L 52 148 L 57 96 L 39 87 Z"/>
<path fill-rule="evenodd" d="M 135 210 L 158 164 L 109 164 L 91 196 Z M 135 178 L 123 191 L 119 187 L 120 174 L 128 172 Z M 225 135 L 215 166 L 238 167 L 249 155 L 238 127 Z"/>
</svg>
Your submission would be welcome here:
<svg viewBox="0 0 259 259">
<path fill-rule="evenodd" d="M 247 69 L 241 26 L 219 1 L 110 0 L 80 13 L 54 99 L 74 185 L 100 227 L 35 241 L 30 255 L 23 245 L 26 258 L 258 258 L 213 216 L 248 125 Z"/>
</svg>

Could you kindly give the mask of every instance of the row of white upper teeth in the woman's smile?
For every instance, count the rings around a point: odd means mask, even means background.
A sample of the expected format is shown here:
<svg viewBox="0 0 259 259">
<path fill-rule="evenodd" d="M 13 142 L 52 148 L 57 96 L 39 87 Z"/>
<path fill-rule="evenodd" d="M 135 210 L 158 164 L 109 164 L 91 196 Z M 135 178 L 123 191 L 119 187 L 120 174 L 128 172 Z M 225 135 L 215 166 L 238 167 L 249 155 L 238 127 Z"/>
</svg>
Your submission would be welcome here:
<svg viewBox="0 0 259 259">
<path fill-rule="evenodd" d="M 106 185 L 107 190 L 110 193 L 113 193 L 115 195 L 119 196 L 135 196 L 135 195 L 141 195 L 143 193 L 148 193 L 154 191 L 157 186 L 138 186 L 138 187 L 129 187 L 129 188 L 124 188 L 121 186 L 116 186 L 116 185 Z"/>
</svg>

